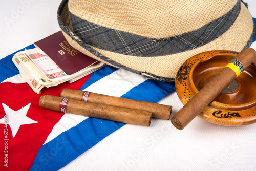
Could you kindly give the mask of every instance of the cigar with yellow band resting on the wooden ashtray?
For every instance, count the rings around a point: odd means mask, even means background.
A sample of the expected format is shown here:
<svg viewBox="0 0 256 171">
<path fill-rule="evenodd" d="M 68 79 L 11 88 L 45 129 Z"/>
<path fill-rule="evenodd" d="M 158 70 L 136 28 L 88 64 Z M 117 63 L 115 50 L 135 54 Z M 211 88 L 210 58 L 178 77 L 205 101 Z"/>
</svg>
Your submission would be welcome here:
<svg viewBox="0 0 256 171">
<path fill-rule="evenodd" d="M 179 130 L 184 129 L 254 60 L 256 51 L 252 48 L 244 49 L 172 117 L 172 124 Z"/>
</svg>

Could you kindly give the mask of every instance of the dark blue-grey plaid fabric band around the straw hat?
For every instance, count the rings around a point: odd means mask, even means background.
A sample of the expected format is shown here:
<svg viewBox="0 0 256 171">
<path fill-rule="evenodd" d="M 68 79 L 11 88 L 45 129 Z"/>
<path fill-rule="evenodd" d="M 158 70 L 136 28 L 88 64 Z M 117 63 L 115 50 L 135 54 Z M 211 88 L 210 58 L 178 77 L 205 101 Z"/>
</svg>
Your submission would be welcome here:
<svg viewBox="0 0 256 171">
<path fill-rule="evenodd" d="M 132 56 L 163 56 L 201 47 L 225 33 L 237 19 L 240 1 L 225 15 L 203 27 L 181 35 L 148 38 L 129 32 L 106 28 L 70 13 L 73 32 L 88 45 Z"/>
</svg>

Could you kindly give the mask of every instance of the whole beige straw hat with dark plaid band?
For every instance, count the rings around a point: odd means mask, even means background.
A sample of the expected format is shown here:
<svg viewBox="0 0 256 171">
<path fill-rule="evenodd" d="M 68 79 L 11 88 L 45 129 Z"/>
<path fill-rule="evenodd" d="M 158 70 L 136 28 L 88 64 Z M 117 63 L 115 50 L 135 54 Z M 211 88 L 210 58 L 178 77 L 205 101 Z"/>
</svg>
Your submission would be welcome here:
<svg viewBox="0 0 256 171">
<path fill-rule="evenodd" d="M 63 0 L 58 22 L 82 53 L 169 82 L 191 56 L 240 52 L 254 38 L 253 19 L 240 0 Z"/>
</svg>

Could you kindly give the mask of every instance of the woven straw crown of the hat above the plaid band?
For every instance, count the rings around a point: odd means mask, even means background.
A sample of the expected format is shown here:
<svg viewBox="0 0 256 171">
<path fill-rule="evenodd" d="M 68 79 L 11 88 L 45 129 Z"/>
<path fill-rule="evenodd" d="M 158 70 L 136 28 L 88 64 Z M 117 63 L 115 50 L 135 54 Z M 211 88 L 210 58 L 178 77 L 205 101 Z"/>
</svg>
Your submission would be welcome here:
<svg viewBox="0 0 256 171">
<path fill-rule="evenodd" d="M 236 3 L 237 0 L 70 0 L 69 11 L 106 28 L 164 38 L 199 29 L 226 14 Z"/>
</svg>

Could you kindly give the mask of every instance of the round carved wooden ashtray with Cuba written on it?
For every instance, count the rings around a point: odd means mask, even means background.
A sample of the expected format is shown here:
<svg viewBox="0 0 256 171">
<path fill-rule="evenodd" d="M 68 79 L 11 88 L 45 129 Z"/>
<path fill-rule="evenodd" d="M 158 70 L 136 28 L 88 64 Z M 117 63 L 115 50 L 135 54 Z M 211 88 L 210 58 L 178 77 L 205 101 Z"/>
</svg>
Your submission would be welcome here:
<svg viewBox="0 0 256 171">
<path fill-rule="evenodd" d="M 238 54 L 223 50 L 207 51 L 185 61 L 175 79 L 176 91 L 181 102 L 185 105 Z M 256 61 L 198 116 L 215 124 L 240 126 L 256 122 L 255 115 Z"/>
</svg>

